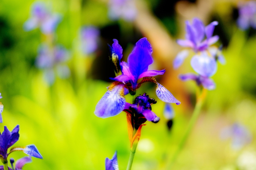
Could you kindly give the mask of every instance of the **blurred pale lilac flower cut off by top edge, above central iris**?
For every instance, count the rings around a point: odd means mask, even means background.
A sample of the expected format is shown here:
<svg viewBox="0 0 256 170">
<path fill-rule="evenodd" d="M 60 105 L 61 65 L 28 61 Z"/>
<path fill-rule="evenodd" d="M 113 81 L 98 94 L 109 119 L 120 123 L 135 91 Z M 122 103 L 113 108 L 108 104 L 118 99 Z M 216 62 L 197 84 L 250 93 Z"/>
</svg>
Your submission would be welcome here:
<svg viewBox="0 0 256 170">
<path fill-rule="evenodd" d="M 127 21 L 133 21 L 137 16 L 137 9 L 134 0 L 110 0 L 109 17 L 117 20 L 123 18 Z"/>
</svg>

